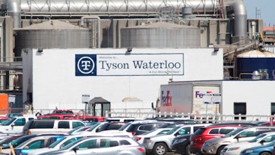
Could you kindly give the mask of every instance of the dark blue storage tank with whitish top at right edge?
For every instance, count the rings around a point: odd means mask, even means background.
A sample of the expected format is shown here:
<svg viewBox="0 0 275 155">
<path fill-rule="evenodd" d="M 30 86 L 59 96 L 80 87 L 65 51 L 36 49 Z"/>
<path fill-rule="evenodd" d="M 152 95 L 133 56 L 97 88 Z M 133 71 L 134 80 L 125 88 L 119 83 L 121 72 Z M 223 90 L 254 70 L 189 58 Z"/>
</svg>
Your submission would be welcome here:
<svg viewBox="0 0 275 155">
<path fill-rule="evenodd" d="M 275 54 L 252 50 L 237 55 L 237 74 L 240 79 L 252 79 L 252 73 L 258 71 L 261 79 L 274 79 Z"/>
</svg>

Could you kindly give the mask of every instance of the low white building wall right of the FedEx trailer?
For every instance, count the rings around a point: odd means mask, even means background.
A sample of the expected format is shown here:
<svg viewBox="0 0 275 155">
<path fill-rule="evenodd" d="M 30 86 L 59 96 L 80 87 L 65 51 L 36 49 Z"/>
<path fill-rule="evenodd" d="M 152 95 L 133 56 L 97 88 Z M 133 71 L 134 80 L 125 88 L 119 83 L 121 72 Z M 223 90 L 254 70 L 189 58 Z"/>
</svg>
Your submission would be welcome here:
<svg viewBox="0 0 275 155">
<path fill-rule="evenodd" d="M 234 103 L 244 102 L 247 114 L 271 114 L 275 81 L 223 81 L 222 114 L 234 114 Z"/>
</svg>

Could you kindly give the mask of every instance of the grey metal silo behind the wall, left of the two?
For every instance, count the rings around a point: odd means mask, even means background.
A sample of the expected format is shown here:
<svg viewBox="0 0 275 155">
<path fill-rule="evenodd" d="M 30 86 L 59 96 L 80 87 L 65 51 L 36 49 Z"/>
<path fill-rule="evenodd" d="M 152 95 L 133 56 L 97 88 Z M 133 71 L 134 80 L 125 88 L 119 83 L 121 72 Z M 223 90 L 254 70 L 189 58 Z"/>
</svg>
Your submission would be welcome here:
<svg viewBox="0 0 275 155">
<path fill-rule="evenodd" d="M 23 48 L 89 48 L 89 30 L 63 21 L 50 20 L 16 32 L 16 56 Z"/>
</svg>

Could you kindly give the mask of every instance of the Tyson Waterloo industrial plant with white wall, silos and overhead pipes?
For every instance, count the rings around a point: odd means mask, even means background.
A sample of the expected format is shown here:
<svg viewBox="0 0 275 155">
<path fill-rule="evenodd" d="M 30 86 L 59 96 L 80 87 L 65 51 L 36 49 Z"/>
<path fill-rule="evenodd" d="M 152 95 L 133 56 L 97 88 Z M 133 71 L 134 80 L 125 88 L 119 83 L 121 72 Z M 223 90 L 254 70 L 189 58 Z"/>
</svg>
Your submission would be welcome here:
<svg viewBox="0 0 275 155">
<path fill-rule="evenodd" d="M 263 21 L 247 19 L 241 0 L 0 2 L 1 92 L 16 94 L 19 109 L 80 109 L 82 94 L 111 102 L 101 109 L 129 108 L 126 98 L 149 108 L 160 85 L 175 81 L 249 81 L 254 70 L 274 79 L 273 59 L 255 65 L 274 57 L 261 52 Z M 84 55 L 97 74 L 76 70 Z M 137 62 L 142 70 L 128 66 Z"/>
</svg>

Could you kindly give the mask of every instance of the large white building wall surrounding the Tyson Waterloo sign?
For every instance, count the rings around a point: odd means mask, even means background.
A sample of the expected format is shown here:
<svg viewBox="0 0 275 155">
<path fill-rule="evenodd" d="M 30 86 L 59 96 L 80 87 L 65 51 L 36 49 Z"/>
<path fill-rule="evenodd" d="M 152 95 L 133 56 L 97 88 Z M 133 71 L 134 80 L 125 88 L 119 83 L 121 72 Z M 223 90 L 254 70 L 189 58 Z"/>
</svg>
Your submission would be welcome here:
<svg viewBox="0 0 275 155">
<path fill-rule="evenodd" d="M 111 108 L 121 107 L 125 97 L 137 97 L 142 104 L 131 108 L 151 108 L 159 96 L 159 87 L 173 81 L 203 81 L 223 79 L 223 51 L 214 49 L 133 49 L 134 54 L 184 54 L 184 75 L 153 76 L 76 76 L 76 54 L 125 54 L 126 49 L 37 49 L 22 52 L 23 101 L 32 91 L 35 110 L 83 109 L 82 95 L 91 99 L 101 96 L 111 102 Z M 166 56 L 166 55 L 165 55 Z M 142 58 L 142 57 L 141 57 Z M 146 58 L 146 57 L 144 57 Z M 140 59 L 137 58 L 137 59 Z M 166 58 L 163 58 L 166 59 Z M 167 58 L 168 59 L 168 58 Z M 152 60 L 153 61 L 153 60 Z M 28 72 L 25 72 L 28 70 Z M 138 71 L 137 71 L 138 72 Z M 141 106 L 142 105 L 142 106 Z"/>
</svg>

